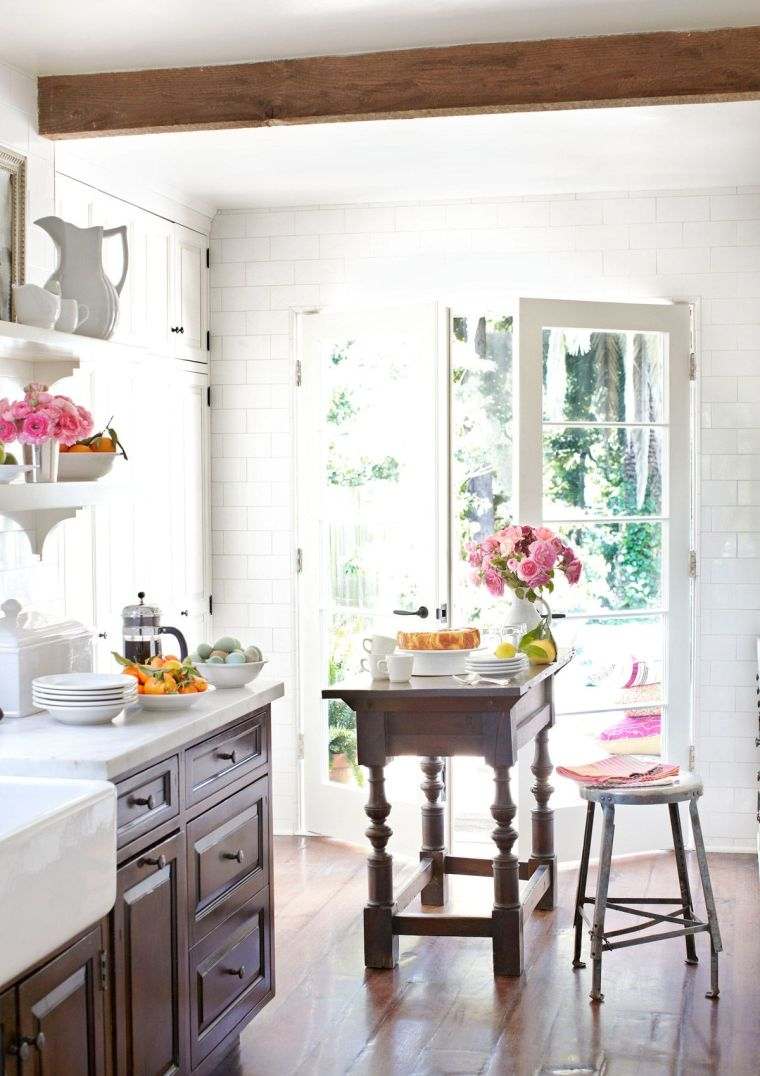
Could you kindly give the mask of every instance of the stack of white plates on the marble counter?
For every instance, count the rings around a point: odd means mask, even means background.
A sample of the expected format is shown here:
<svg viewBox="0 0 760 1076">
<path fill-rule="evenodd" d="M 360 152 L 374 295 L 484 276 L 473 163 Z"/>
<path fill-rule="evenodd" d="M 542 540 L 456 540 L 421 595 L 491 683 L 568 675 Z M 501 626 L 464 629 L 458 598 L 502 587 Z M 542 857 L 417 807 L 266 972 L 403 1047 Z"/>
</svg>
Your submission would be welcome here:
<svg viewBox="0 0 760 1076">
<path fill-rule="evenodd" d="M 104 725 L 138 699 L 131 676 L 101 672 L 59 672 L 31 682 L 34 706 L 65 725 Z"/>
</svg>

